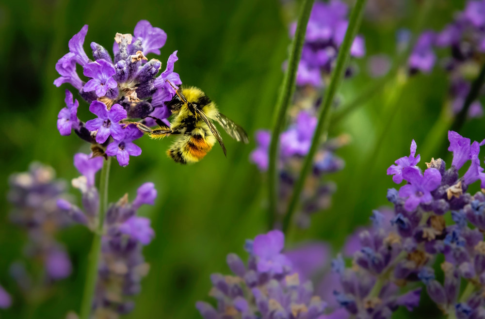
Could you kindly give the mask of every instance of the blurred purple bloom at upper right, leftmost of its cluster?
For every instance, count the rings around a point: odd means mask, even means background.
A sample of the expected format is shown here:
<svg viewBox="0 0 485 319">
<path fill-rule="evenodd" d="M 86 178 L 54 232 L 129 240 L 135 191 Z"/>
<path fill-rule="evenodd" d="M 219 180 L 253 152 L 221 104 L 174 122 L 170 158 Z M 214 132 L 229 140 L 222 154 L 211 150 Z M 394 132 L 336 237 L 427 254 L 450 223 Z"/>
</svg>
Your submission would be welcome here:
<svg viewBox="0 0 485 319">
<path fill-rule="evenodd" d="M 409 67 L 423 73 L 429 73 L 436 64 L 436 55 L 433 51 L 435 33 L 427 31 L 421 33 L 411 55 L 409 56 Z"/>
</svg>

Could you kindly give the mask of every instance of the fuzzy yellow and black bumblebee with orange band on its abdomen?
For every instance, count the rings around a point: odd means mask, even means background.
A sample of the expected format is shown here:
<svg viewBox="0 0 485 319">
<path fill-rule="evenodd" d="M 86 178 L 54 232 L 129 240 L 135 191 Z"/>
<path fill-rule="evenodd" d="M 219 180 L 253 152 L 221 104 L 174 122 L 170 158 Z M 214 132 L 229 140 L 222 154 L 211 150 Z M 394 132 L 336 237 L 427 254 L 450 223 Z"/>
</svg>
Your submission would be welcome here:
<svg viewBox="0 0 485 319">
<path fill-rule="evenodd" d="M 154 118 L 159 128 L 149 128 L 139 122 L 135 124 L 152 139 L 160 139 L 168 135 L 177 135 L 176 140 L 167 150 L 167 155 L 177 163 L 194 163 L 203 159 L 215 142 L 219 142 L 226 156 L 226 147 L 221 134 L 212 121 L 216 121 L 233 139 L 249 143 L 242 127 L 220 113 L 214 102 L 196 87 L 176 88 L 174 98 L 165 105 L 175 116 L 168 128 L 160 119 Z"/>
</svg>

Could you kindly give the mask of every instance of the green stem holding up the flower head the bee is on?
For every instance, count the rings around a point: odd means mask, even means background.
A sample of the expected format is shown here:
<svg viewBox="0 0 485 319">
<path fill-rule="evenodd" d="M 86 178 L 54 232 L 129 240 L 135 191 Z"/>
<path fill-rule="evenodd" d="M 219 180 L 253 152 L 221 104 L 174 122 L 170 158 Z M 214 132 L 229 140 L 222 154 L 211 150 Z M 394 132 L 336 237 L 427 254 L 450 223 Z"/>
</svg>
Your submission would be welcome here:
<svg viewBox="0 0 485 319">
<path fill-rule="evenodd" d="M 86 282 L 84 283 L 84 293 L 81 302 L 81 316 L 80 319 L 88 319 L 91 314 L 93 296 L 97 281 L 97 267 L 99 261 L 99 254 L 101 252 L 101 237 L 103 235 L 104 216 L 108 208 L 108 181 L 110 177 L 111 157 L 103 162 L 101 169 L 101 176 L 99 179 L 99 218 L 94 230 L 94 238 L 89 253 L 88 270 L 86 274 Z"/>
</svg>

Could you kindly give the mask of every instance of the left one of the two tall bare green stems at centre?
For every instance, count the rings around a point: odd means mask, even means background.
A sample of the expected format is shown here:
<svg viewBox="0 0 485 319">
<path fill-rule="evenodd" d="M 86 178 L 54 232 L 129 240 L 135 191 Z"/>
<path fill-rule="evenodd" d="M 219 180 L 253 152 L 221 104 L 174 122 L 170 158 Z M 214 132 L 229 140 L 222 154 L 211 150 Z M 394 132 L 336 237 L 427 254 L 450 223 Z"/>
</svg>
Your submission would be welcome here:
<svg viewBox="0 0 485 319">
<path fill-rule="evenodd" d="M 276 103 L 276 117 L 271 135 L 271 144 L 269 149 L 269 167 L 268 167 L 268 185 L 269 185 L 269 220 L 268 226 L 273 229 L 276 217 L 276 161 L 278 160 L 278 140 L 279 134 L 285 124 L 286 112 L 290 105 L 290 99 L 295 89 L 296 71 L 298 70 L 298 63 L 302 55 L 303 43 L 305 41 L 305 34 L 307 31 L 308 19 L 310 18 L 311 8 L 315 0 L 304 0 L 298 22 L 296 25 L 296 32 L 293 41 L 291 42 L 290 57 L 288 59 L 288 67 L 283 77 L 283 84 Z"/>
</svg>

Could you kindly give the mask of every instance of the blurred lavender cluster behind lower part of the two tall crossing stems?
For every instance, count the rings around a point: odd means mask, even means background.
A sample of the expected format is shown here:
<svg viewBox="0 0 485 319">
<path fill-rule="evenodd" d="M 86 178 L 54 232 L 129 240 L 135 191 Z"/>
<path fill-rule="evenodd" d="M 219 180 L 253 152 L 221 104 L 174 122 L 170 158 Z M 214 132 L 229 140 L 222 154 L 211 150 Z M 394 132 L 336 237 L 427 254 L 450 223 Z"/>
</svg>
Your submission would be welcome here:
<svg viewBox="0 0 485 319">
<path fill-rule="evenodd" d="M 301 111 L 294 123 L 280 135 L 278 157 L 280 181 L 278 211 L 280 213 L 285 212 L 301 163 L 310 148 L 316 125 L 317 118 L 314 115 L 308 111 Z M 255 139 L 257 148 L 250 154 L 250 160 L 258 166 L 259 170 L 265 171 L 268 168 L 271 134 L 269 131 L 259 130 L 256 132 Z M 347 140 L 346 136 L 341 136 L 320 146 L 313 163 L 313 174 L 308 178 L 308 184 L 312 187 L 306 188 L 302 195 L 301 214 L 297 217 L 299 226 L 307 227 L 312 213 L 329 207 L 331 195 L 336 187 L 332 182 L 323 182 L 322 177 L 343 168 L 344 162 L 335 155 L 335 150 L 346 144 Z"/>
</svg>

